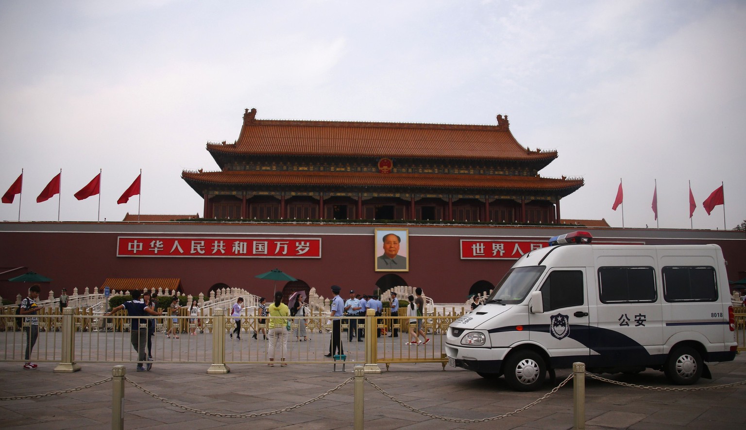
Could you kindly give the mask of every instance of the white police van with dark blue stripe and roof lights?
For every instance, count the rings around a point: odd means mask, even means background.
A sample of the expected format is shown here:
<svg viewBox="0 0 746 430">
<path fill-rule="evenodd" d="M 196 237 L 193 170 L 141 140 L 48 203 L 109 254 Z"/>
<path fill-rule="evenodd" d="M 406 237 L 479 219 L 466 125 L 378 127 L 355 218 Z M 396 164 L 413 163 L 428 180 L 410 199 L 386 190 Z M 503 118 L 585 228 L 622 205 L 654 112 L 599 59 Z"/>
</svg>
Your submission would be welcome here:
<svg viewBox="0 0 746 430">
<path fill-rule="evenodd" d="M 736 356 L 733 306 L 715 244 L 591 244 L 550 239 L 515 262 L 483 305 L 448 329 L 449 364 L 533 391 L 547 373 L 662 370 L 671 382 L 711 378 L 705 361 Z"/>
</svg>

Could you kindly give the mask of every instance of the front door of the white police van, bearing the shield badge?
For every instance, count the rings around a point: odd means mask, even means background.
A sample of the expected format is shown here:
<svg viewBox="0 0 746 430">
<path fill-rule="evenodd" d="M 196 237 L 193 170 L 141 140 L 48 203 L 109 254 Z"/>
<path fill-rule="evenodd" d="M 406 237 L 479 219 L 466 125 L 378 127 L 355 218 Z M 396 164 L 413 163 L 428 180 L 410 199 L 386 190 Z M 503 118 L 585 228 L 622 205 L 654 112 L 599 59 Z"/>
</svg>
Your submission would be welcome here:
<svg viewBox="0 0 746 430">
<path fill-rule="evenodd" d="M 549 352 L 550 367 L 571 367 L 589 354 L 589 304 L 586 268 L 557 268 L 546 275 L 542 291 L 544 312 L 529 314 L 531 341 Z"/>
</svg>

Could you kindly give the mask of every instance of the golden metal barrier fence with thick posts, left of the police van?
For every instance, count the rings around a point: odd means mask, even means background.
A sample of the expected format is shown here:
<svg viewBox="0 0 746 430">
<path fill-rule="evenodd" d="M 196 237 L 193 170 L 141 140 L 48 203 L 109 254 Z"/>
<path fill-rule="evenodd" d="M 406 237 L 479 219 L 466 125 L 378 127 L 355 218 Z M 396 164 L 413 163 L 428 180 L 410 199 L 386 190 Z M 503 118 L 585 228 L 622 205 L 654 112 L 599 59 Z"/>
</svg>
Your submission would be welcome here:
<svg viewBox="0 0 746 430">
<path fill-rule="evenodd" d="M 33 327 L 26 317 L 0 315 L 3 332 L 0 332 L 1 361 L 32 361 L 60 363 L 55 371 L 69 372 L 80 368 L 81 363 L 138 363 L 136 350 L 142 336 L 146 355 L 154 364 L 204 363 L 210 364 L 210 373 L 226 373 L 227 364 L 386 364 L 439 363 L 445 368 L 443 336 L 448 325 L 457 316 L 417 317 L 422 321 L 429 341 L 409 344 L 409 317 L 341 317 L 341 350 L 330 357 L 333 324 L 326 316 L 289 317 L 286 329 L 282 317 L 242 316 L 230 317 L 216 309 L 214 314 L 197 320 L 189 316 L 141 317 L 141 329 L 132 327 L 131 317 L 124 312 L 104 316 L 90 312 L 65 309 L 62 316 L 38 315 L 37 341 L 31 355 L 25 358 L 28 335 Z M 22 327 L 16 326 L 22 320 Z M 236 332 L 236 320 L 239 331 Z M 263 323 L 261 321 L 264 321 Z M 269 326 L 278 321 L 280 329 Z M 151 329 L 147 329 L 148 324 Z M 170 335 L 173 331 L 177 335 Z M 416 326 L 416 325 L 415 325 Z M 304 331 L 305 329 L 305 331 Z M 194 334 L 191 334 L 194 333 Z M 265 334 L 266 333 L 266 334 Z M 274 361 L 270 359 L 270 333 L 277 335 Z M 256 334 L 256 338 L 254 338 Z M 397 336 L 394 337 L 394 334 Z M 280 338 L 286 340 L 286 352 Z M 240 338 L 240 339 L 239 339 Z M 65 364 L 62 366 L 61 364 Z M 336 366 L 335 366 L 336 369 Z"/>
</svg>

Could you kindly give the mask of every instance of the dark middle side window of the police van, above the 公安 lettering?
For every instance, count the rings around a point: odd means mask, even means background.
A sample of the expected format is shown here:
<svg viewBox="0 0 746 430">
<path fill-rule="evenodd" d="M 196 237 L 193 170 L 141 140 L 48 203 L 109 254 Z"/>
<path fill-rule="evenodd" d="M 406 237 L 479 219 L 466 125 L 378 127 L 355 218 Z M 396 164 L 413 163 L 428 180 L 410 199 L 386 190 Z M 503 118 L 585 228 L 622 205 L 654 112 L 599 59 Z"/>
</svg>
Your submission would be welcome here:
<svg viewBox="0 0 746 430">
<path fill-rule="evenodd" d="M 602 267 L 598 269 L 601 303 L 640 303 L 658 300 L 655 269 Z"/>
</svg>

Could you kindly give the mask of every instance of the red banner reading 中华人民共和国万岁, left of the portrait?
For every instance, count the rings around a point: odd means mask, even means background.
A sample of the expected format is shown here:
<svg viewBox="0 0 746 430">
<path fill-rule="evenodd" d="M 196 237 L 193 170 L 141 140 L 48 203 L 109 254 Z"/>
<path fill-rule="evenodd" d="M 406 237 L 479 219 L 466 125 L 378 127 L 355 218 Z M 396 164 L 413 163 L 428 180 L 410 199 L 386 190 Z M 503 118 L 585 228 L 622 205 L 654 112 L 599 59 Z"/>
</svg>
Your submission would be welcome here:
<svg viewBox="0 0 746 430">
<path fill-rule="evenodd" d="M 322 239 L 119 236 L 116 256 L 320 259 Z"/>
</svg>

